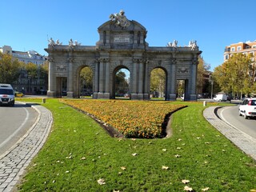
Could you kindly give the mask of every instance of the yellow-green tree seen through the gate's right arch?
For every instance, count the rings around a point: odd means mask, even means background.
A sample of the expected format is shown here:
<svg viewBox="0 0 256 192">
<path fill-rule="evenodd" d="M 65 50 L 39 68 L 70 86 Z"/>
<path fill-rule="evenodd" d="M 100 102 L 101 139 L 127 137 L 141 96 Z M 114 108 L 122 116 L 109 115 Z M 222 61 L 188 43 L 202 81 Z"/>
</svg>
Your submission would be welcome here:
<svg viewBox="0 0 256 192">
<path fill-rule="evenodd" d="M 161 68 L 152 70 L 150 74 L 150 91 L 158 92 L 159 98 L 162 98 L 166 89 L 166 73 Z"/>
</svg>

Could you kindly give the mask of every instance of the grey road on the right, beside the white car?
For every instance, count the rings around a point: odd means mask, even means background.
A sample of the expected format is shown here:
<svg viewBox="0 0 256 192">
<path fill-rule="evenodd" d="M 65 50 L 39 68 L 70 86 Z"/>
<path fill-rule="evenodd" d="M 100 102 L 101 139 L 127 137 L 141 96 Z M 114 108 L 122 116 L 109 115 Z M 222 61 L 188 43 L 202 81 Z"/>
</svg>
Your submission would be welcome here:
<svg viewBox="0 0 256 192">
<path fill-rule="evenodd" d="M 231 126 L 249 134 L 252 138 L 256 138 L 256 119 L 245 119 L 239 116 L 238 107 L 239 106 L 226 106 L 218 110 L 218 115 Z"/>
</svg>

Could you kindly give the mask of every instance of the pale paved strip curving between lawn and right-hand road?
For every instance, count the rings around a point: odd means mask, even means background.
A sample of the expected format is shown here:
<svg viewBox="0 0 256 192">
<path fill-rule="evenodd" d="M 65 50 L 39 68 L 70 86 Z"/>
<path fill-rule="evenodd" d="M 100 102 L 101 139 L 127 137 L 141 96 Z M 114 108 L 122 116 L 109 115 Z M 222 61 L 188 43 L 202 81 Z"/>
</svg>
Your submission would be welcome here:
<svg viewBox="0 0 256 192">
<path fill-rule="evenodd" d="M 236 129 L 234 126 L 230 126 L 218 118 L 214 113 L 217 108 L 218 106 L 210 106 L 203 111 L 203 115 L 206 120 L 223 135 L 225 135 L 226 138 L 230 139 L 234 145 L 238 146 L 239 149 L 256 160 L 256 139 L 243 133 L 241 130 Z"/>
</svg>

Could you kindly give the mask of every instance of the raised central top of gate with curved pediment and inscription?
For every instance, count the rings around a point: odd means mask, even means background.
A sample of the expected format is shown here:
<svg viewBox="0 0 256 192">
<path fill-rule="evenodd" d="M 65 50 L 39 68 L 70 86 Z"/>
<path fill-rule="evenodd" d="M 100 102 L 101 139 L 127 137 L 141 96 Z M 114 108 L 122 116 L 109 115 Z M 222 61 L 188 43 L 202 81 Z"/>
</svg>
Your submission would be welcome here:
<svg viewBox="0 0 256 192">
<path fill-rule="evenodd" d="M 111 14 L 113 18 L 98 27 L 99 41 L 96 47 L 100 50 L 130 50 L 145 49 L 146 28 L 140 23 L 125 18 L 118 20 L 118 14 Z M 111 17 L 110 15 L 110 17 Z"/>
</svg>

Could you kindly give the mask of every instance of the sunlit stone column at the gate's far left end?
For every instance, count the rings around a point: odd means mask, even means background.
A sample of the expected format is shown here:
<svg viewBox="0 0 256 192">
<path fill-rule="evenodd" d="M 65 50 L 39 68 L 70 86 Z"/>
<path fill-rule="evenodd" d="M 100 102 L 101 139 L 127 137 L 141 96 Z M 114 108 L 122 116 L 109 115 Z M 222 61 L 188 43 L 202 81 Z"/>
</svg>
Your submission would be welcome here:
<svg viewBox="0 0 256 192">
<path fill-rule="evenodd" d="M 54 98 L 56 94 L 56 77 L 54 76 L 54 58 L 49 57 L 49 76 L 48 76 L 48 90 L 47 96 L 50 98 Z"/>
</svg>

